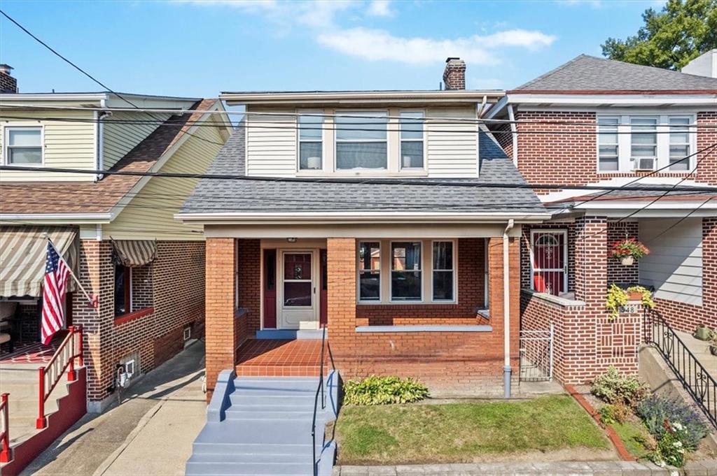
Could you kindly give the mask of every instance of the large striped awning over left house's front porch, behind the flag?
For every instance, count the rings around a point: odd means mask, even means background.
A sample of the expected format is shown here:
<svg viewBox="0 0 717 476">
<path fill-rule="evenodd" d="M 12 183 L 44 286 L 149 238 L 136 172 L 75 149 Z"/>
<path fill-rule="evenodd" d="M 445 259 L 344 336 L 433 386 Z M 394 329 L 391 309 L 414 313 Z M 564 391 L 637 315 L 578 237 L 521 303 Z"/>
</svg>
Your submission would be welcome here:
<svg viewBox="0 0 717 476">
<path fill-rule="evenodd" d="M 47 236 L 62 258 L 75 269 L 77 228 L 53 226 L 0 226 L 0 296 L 42 296 Z M 67 281 L 68 291 L 75 280 Z"/>
</svg>

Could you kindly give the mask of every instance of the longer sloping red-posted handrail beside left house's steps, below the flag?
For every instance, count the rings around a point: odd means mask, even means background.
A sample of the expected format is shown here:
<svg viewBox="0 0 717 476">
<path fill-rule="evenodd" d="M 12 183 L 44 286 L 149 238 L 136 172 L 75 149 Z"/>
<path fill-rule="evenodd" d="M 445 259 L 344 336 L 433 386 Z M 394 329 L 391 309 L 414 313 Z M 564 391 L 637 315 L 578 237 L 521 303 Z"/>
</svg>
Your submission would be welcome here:
<svg viewBox="0 0 717 476">
<path fill-rule="evenodd" d="M 77 365 L 82 366 L 82 326 L 70 326 L 68 329 L 70 332 L 65 336 L 65 340 L 54 352 L 52 359 L 47 363 L 46 366 L 42 366 L 37 369 L 37 376 L 39 377 L 39 402 L 38 402 L 38 415 L 37 429 L 47 427 L 47 417 L 44 413 L 44 404 L 47 402 L 47 398 L 60 383 L 62 375 L 67 371 L 67 382 L 74 382 L 77 378 L 75 374 L 75 359 L 77 359 Z M 47 389 L 47 392 L 45 391 Z"/>
</svg>

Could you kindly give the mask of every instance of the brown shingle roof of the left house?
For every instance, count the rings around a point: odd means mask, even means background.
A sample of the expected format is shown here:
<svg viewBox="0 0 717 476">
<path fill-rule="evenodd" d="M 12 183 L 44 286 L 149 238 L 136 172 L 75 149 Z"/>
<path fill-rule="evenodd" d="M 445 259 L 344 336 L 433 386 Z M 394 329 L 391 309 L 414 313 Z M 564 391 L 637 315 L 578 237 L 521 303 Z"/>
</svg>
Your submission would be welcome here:
<svg viewBox="0 0 717 476">
<path fill-rule="evenodd" d="M 148 172 L 217 100 L 201 99 L 191 106 L 196 112 L 169 117 L 109 170 Z M 141 179 L 105 175 L 98 182 L 0 183 L 0 213 L 110 213 Z"/>
</svg>

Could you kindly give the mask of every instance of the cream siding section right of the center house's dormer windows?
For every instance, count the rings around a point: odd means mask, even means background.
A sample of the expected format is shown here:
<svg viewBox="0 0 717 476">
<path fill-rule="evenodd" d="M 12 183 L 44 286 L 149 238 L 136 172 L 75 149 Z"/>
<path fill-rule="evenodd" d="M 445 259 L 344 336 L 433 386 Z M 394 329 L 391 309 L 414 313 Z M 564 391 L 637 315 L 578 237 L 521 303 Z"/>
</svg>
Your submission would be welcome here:
<svg viewBox="0 0 717 476">
<path fill-rule="evenodd" d="M 427 117 L 475 119 L 475 110 L 431 108 Z M 428 175 L 471 178 L 477 173 L 478 127 L 470 122 L 427 125 Z M 457 132 L 460 131 L 460 132 Z"/>
</svg>

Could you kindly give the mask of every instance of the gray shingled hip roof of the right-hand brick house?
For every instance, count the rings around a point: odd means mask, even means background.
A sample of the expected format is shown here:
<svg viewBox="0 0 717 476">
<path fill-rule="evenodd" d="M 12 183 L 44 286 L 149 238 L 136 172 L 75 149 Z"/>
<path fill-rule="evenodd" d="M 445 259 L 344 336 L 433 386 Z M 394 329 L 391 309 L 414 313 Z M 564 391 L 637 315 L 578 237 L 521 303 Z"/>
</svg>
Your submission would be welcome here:
<svg viewBox="0 0 717 476">
<path fill-rule="evenodd" d="M 511 92 L 717 92 L 717 79 L 581 54 Z"/>
</svg>

